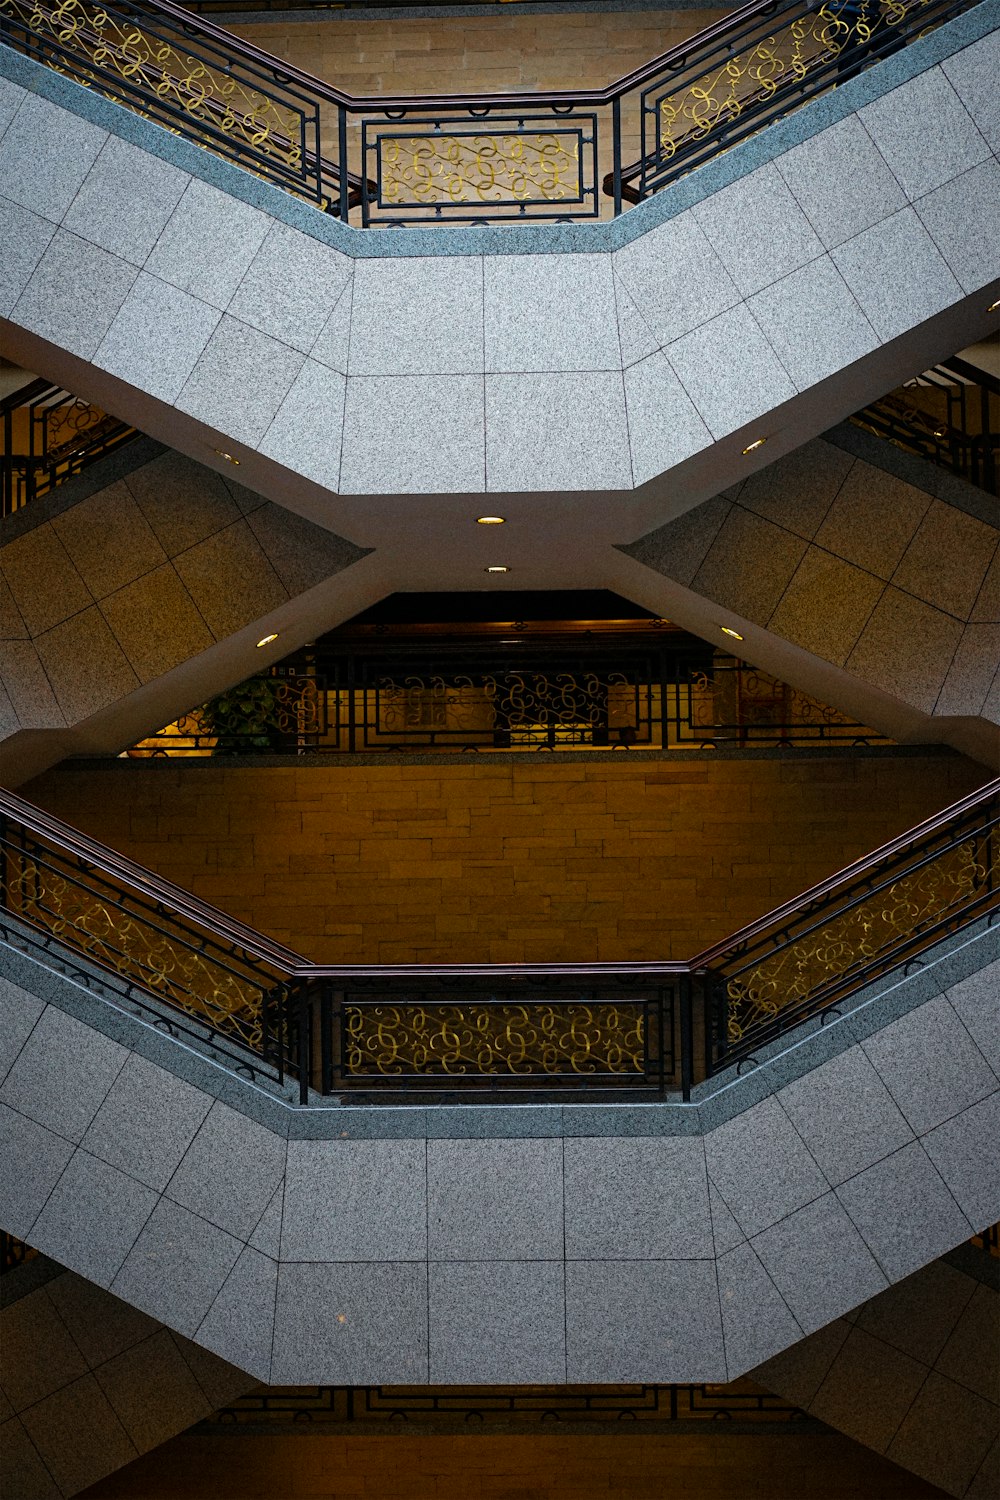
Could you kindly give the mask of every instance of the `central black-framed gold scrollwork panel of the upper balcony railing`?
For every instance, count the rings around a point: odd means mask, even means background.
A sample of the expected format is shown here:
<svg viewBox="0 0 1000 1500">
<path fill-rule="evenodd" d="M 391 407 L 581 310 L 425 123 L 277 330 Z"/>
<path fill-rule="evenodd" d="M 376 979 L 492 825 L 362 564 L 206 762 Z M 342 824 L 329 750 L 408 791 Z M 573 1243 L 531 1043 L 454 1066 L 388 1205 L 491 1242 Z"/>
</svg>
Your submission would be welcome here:
<svg viewBox="0 0 1000 1500">
<path fill-rule="evenodd" d="M 595 218 L 597 117 L 495 116 L 468 128 L 454 117 L 405 114 L 402 126 L 366 118 L 367 224 L 435 219 Z M 375 195 L 370 186 L 375 184 Z"/>
</svg>

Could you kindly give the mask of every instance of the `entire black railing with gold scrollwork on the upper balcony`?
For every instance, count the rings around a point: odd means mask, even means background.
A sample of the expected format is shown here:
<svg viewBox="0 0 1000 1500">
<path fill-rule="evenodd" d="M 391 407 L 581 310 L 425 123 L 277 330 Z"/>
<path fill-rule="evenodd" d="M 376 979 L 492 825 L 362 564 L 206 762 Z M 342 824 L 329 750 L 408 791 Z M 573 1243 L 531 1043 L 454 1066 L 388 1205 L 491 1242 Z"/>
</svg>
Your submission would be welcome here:
<svg viewBox="0 0 1000 1500">
<path fill-rule="evenodd" d="M 171 0 L 0 0 L 0 40 L 343 222 L 618 214 L 973 0 L 754 0 L 607 88 L 354 98 Z"/>
</svg>

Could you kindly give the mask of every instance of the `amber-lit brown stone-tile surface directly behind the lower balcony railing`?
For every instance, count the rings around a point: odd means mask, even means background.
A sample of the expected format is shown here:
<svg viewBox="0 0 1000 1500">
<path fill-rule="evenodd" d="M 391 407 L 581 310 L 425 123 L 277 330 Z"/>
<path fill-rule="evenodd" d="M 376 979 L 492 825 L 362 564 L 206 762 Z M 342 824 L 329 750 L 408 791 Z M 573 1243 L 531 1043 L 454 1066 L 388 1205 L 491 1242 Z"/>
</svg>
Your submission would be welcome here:
<svg viewBox="0 0 1000 1500">
<path fill-rule="evenodd" d="M 24 795 L 318 962 L 543 963 L 693 957 L 985 778 L 934 754 L 67 762 Z"/>
</svg>

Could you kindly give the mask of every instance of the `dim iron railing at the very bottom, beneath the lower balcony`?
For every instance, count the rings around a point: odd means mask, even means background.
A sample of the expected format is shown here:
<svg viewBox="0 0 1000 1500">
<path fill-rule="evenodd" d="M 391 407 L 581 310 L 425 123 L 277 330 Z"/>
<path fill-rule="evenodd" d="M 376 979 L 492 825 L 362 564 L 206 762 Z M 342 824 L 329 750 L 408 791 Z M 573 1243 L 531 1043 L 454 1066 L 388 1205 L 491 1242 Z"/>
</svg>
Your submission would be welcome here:
<svg viewBox="0 0 1000 1500">
<path fill-rule="evenodd" d="M 813 1419 L 751 1380 L 685 1386 L 265 1386 L 240 1396 L 202 1425 L 693 1422 L 748 1424 L 751 1430 L 801 1432 Z M 816 1424 L 817 1425 L 817 1424 Z M 732 1430 L 732 1428 L 730 1428 Z"/>
</svg>

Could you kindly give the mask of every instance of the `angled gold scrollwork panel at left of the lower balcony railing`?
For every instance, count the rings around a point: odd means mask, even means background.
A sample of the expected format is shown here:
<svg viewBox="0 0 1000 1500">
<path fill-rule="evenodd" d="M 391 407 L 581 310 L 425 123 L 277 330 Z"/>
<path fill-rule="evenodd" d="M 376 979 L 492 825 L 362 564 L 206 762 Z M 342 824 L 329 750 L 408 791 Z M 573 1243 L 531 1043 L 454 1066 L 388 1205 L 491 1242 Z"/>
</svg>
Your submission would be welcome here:
<svg viewBox="0 0 1000 1500">
<path fill-rule="evenodd" d="M 16 916 L 85 954 L 102 969 L 208 1022 L 261 1050 L 261 984 L 190 948 L 180 933 L 163 932 L 141 912 L 78 885 L 28 855 L 9 854 L 6 906 Z M 190 939 L 189 939 L 190 940 Z"/>
</svg>

